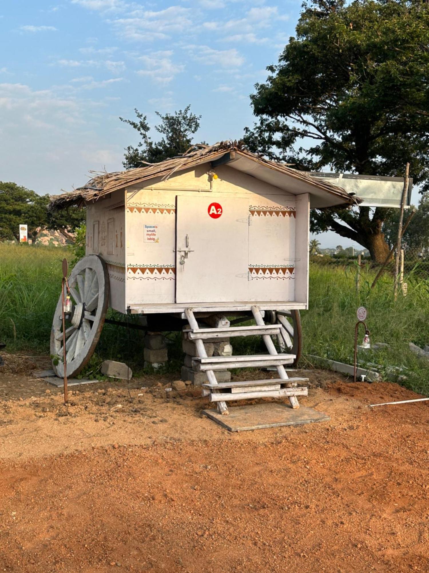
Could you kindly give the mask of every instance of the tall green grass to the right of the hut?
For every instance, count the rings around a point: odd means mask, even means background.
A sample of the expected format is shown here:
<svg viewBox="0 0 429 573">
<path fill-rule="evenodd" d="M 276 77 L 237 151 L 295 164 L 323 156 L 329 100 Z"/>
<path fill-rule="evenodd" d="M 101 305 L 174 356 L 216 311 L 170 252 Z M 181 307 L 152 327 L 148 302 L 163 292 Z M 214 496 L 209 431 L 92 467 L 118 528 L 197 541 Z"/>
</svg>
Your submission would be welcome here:
<svg viewBox="0 0 429 573">
<path fill-rule="evenodd" d="M 367 308 L 367 327 L 371 342 L 384 342 L 388 348 L 360 354 L 381 366 L 382 373 L 392 367 L 403 368 L 406 384 L 416 391 L 429 393 L 429 363 L 409 349 L 413 342 L 429 344 L 429 281 L 408 273 L 408 295 L 394 300 L 393 281 L 383 276 L 371 290 L 376 270 L 363 270 L 359 292 L 355 288 L 356 266 L 310 268 L 309 309 L 301 312 L 304 356 L 316 355 L 352 364 L 356 309 Z M 362 343 L 363 328 L 358 343 Z M 399 371 L 400 374 L 400 371 Z"/>
</svg>

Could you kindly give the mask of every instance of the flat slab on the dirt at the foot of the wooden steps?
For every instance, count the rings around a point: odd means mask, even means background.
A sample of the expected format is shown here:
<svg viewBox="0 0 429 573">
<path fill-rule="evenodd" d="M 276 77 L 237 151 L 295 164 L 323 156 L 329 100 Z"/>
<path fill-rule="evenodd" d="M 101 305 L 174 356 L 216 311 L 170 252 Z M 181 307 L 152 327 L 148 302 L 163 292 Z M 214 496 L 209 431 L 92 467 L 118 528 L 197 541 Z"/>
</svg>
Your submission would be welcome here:
<svg viewBox="0 0 429 573">
<path fill-rule="evenodd" d="M 300 406 L 293 409 L 277 402 L 228 408 L 229 415 L 219 414 L 217 410 L 202 410 L 229 431 L 261 430 L 277 426 L 297 426 L 313 422 L 327 422 L 330 418 L 313 408 Z"/>
</svg>

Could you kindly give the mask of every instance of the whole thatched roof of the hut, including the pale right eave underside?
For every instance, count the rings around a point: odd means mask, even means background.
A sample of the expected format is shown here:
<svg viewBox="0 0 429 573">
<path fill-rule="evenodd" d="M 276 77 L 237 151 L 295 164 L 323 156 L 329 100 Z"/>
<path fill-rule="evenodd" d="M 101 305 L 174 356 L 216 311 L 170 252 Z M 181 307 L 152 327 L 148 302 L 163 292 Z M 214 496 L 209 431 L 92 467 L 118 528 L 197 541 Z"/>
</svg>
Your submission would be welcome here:
<svg viewBox="0 0 429 573">
<path fill-rule="evenodd" d="M 230 158 L 234 158 L 229 159 L 231 163 L 225 161 L 225 163 L 229 163 L 231 167 L 243 172 L 252 171 L 252 175 L 256 178 L 265 180 L 282 189 L 289 190 L 289 187 L 291 187 L 291 185 L 293 186 L 293 183 L 304 183 L 304 187 L 301 185 L 304 191 L 301 190 L 299 193 L 315 193 L 318 196 L 316 203 L 317 201 L 319 203 L 321 202 L 321 207 L 341 204 L 356 205 L 360 202 L 358 198 L 352 197 L 346 193 L 344 189 L 341 189 L 341 187 L 337 187 L 323 179 L 317 179 L 314 176 L 308 175 L 305 171 L 293 169 L 287 164 L 264 159 L 260 155 L 247 151 L 241 142 L 228 141 L 215 143 L 215 145 L 212 146 L 197 144 L 181 156 L 166 159 L 160 163 L 148 164 L 145 167 L 139 167 L 129 171 L 117 171 L 113 173 L 92 172 L 93 178 L 83 187 L 79 187 L 69 193 L 51 197 L 51 209 L 58 210 L 71 205 L 83 206 L 86 202 L 96 201 L 100 197 L 103 197 L 103 195 L 112 193 L 118 189 L 125 189 L 126 187 L 138 185 L 154 178 L 166 180 L 179 171 L 196 167 L 201 163 L 214 162 L 227 154 L 229 154 Z M 249 166 L 249 160 L 253 162 L 251 170 L 246 167 Z M 258 171 L 256 171 L 254 163 L 257 164 L 256 167 L 260 167 Z M 294 191 L 291 190 L 291 193 L 294 193 Z M 297 192 L 296 194 L 299 193 Z M 327 195 L 328 197 L 323 198 L 323 195 Z M 324 205 L 324 203 L 327 204 Z M 314 206 L 318 207 L 319 205 Z"/>
</svg>

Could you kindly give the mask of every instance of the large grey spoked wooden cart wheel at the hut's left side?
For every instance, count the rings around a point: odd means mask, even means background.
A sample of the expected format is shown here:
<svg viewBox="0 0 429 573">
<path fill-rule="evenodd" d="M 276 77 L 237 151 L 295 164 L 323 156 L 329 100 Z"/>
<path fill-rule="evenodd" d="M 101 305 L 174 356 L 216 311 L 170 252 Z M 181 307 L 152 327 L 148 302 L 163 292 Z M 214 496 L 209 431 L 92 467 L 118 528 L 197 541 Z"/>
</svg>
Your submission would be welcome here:
<svg viewBox="0 0 429 573">
<path fill-rule="evenodd" d="M 109 276 L 105 262 L 96 254 L 79 261 L 69 277 L 72 312 L 66 316 L 67 376 L 75 376 L 88 363 L 100 338 L 109 303 Z M 65 295 L 66 296 L 66 295 Z M 62 348 L 62 300 L 55 308 L 51 329 L 50 352 L 53 369 L 64 376 Z"/>
</svg>

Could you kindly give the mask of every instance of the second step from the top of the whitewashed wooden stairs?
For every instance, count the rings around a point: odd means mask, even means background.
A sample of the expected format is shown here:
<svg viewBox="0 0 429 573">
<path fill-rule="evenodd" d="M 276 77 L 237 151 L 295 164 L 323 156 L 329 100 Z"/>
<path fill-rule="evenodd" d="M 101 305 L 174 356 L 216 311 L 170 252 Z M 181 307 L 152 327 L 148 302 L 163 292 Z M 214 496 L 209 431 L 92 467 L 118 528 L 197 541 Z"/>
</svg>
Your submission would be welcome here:
<svg viewBox="0 0 429 573">
<path fill-rule="evenodd" d="M 192 359 L 196 362 L 197 370 L 228 370 L 228 368 L 260 368 L 262 366 L 281 366 L 292 364 L 295 354 L 254 354 L 244 356 L 209 356 Z"/>
</svg>

